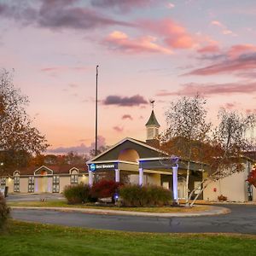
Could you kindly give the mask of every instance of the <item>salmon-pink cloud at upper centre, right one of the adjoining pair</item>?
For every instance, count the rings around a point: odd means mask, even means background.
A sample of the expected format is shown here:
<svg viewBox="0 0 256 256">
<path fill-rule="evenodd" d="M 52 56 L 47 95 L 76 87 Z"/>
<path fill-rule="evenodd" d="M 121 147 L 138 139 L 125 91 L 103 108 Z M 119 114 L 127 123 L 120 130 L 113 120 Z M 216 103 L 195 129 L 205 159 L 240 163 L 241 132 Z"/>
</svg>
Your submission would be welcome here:
<svg viewBox="0 0 256 256">
<path fill-rule="evenodd" d="M 174 49 L 190 49 L 197 44 L 195 38 L 183 26 L 171 19 L 141 20 L 138 26 L 159 35 L 169 47 Z"/>
</svg>

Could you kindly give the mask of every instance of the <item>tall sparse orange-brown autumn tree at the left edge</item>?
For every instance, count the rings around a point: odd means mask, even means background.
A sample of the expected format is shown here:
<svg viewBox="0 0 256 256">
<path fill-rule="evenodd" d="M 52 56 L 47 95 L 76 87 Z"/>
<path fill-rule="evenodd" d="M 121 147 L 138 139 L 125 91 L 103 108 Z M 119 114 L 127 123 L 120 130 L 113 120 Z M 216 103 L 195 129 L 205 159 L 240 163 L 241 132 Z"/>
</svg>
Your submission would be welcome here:
<svg viewBox="0 0 256 256">
<path fill-rule="evenodd" d="M 43 135 L 26 113 L 27 96 L 13 84 L 13 74 L 0 71 L 0 160 L 2 171 L 20 166 L 20 155 L 39 154 L 47 147 Z M 9 161 L 11 155 L 12 161 Z"/>
</svg>

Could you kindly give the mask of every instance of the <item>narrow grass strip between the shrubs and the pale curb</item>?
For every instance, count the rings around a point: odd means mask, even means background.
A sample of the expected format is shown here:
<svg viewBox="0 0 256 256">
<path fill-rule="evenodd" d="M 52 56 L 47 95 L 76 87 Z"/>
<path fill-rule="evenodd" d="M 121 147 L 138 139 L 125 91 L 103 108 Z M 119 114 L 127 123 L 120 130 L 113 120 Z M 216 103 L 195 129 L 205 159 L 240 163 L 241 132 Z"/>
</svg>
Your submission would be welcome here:
<svg viewBox="0 0 256 256">
<path fill-rule="evenodd" d="M 67 201 L 12 201 L 8 202 L 9 207 L 77 207 L 77 208 L 96 208 L 117 211 L 131 211 L 131 212 L 201 212 L 209 210 L 209 206 L 201 207 L 109 207 L 109 206 L 96 206 L 94 204 L 79 204 L 68 205 Z"/>
</svg>

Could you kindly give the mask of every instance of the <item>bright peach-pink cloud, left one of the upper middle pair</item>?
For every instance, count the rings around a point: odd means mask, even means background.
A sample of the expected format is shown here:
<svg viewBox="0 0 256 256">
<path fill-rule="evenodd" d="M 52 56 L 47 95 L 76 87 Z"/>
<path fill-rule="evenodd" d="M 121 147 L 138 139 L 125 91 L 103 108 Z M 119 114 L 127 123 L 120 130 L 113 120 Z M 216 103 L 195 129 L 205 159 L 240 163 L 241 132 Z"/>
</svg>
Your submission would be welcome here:
<svg viewBox="0 0 256 256">
<path fill-rule="evenodd" d="M 141 37 L 136 39 L 129 38 L 124 32 L 114 31 L 103 40 L 109 49 L 118 50 L 126 54 L 139 53 L 163 53 L 172 54 L 172 50 L 157 44 L 157 38 Z"/>
</svg>

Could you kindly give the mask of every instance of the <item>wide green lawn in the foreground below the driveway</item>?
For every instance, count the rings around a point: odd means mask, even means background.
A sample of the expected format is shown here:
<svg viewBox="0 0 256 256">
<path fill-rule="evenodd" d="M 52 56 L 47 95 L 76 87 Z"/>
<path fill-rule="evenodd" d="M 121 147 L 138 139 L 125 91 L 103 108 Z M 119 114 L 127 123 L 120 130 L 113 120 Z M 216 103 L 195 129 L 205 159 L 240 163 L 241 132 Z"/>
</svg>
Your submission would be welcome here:
<svg viewBox="0 0 256 256">
<path fill-rule="evenodd" d="M 9 220 L 3 255 L 255 255 L 256 236 L 184 235 L 88 230 Z"/>
</svg>

